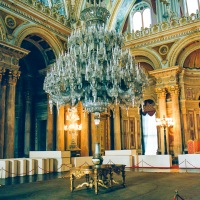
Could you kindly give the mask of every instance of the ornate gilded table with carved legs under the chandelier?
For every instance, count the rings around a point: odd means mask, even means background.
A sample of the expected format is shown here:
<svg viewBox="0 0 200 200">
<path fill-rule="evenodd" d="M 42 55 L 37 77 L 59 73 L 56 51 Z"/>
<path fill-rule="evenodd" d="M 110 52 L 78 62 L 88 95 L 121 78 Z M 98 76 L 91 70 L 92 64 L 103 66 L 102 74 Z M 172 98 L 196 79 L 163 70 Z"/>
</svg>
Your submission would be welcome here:
<svg viewBox="0 0 200 200">
<path fill-rule="evenodd" d="M 98 194 L 99 186 L 106 189 L 112 188 L 114 184 L 120 184 L 115 181 L 113 174 L 121 175 L 122 186 L 125 187 L 125 165 L 107 164 L 96 167 L 94 165 L 80 166 L 70 169 L 70 190 L 81 188 L 94 189 L 95 194 Z M 75 179 L 85 177 L 85 182 L 75 187 Z"/>
</svg>

